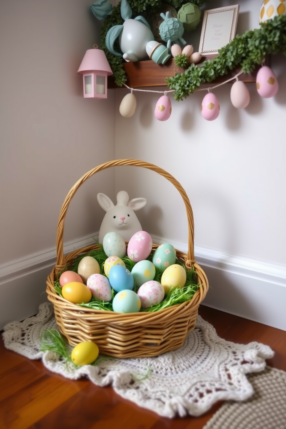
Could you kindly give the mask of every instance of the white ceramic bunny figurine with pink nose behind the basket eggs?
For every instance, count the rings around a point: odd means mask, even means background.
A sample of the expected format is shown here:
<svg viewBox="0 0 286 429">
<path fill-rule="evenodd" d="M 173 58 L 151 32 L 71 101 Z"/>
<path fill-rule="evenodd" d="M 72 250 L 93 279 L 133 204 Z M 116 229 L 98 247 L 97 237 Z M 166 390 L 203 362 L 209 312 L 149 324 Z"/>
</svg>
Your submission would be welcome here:
<svg viewBox="0 0 286 429">
<path fill-rule="evenodd" d="M 120 190 L 116 199 L 117 204 L 114 205 L 104 193 L 97 194 L 100 207 L 106 211 L 99 229 L 99 243 L 102 243 L 105 234 L 111 231 L 119 234 L 124 241 L 128 242 L 133 234 L 142 230 L 134 211 L 144 207 L 146 199 L 133 198 L 129 201 L 129 195 L 125 190 Z"/>
</svg>

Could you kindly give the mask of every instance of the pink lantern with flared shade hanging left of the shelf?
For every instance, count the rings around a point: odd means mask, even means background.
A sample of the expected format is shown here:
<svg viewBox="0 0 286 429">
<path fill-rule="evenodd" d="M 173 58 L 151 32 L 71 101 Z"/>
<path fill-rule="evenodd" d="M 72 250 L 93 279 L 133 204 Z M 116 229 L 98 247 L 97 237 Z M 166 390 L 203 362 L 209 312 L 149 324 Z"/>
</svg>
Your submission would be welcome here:
<svg viewBox="0 0 286 429">
<path fill-rule="evenodd" d="M 78 74 L 83 76 L 84 98 L 107 98 L 107 76 L 113 73 L 104 51 L 97 45 L 86 51 Z"/>
</svg>

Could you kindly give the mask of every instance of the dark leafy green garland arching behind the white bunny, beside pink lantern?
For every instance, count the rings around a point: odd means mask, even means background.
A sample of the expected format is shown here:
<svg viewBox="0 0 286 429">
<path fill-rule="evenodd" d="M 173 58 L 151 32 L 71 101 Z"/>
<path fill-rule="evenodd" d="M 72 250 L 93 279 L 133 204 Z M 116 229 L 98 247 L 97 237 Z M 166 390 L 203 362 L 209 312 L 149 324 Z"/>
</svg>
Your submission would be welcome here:
<svg viewBox="0 0 286 429">
<path fill-rule="evenodd" d="M 207 0 L 207 1 L 211 1 L 211 0 Z M 164 3 L 168 3 L 171 6 L 175 7 L 175 9 L 179 9 L 183 4 L 186 3 L 186 0 L 168 0 L 168 1 L 163 1 L 163 0 L 128 0 L 128 3 L 132 9 L 133 16 L 135 17 L 135 16 L 140 15 L 142 13 L 145 13 L 147 11 L 148 11 L 148 13 L 155 12 L 155 11 L 159 10 L 160 7 Z M 206 3 L 206 1 L 205 0 L 192 0 L 192 3 L 195 4 L 196 6 L 201 7 L 204 3 Z M 114 55 L 112 55 L 108 51 L 108 49 L 106 48 L 106 45 L 105 45 L 105 36 L 111 27 L 113 27 L 114 25 L 122 25 L 123 24 L 124 21 L 120 15 L 120 6 L 121 6 L 121 1 L 116 6 L 113 6 L 112 13 L 110 16 L 108 16 L 103 21 L 103 25 L 101 27 L 101 32 L 100 32 L 100 35 L 101 35 L 100 48 L 102 49 L 102 51 L 105 52 L 106 58 L 107 58 L 108 63 L 111 67 L 111 70 L 113 72 L 115 85 L 117 85 L 119 87 L 121 87 L 123 85 L 123 83 L 126 82 L 126 80 L 127 80 L 125 71 L 123 69 L 122 58 L 121 57 L 115 57 Z M 117 43 L 117 45 L 116 45 L 116 43 Z M 115 48 L 115 50 L 120 52 L 118 41 L 114 43 L 114 48 Z"/>
</svg>

